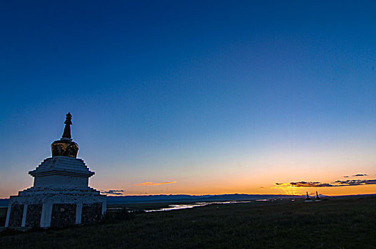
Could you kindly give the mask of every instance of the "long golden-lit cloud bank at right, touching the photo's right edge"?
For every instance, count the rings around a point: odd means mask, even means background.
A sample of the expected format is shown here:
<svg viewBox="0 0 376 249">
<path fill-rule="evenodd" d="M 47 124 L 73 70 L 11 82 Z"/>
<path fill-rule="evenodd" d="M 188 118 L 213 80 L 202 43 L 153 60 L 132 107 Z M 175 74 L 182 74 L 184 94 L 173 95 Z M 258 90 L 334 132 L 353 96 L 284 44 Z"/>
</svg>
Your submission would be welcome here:
<svg viewBox="0 0 376 249">
<path fill-rule="evenodd" d="M 347 180 L 347 181 L 334 181 L 331 183 L 322 183 L 320 181 L 296 181 L 288 183 L 275 183 L 275 186 L 282 187 L 295 187 L 295 188 L 322 188 L 322 187 L 334 187 L 334 186 L 359 186 L 359 185 L 376 185 L 376 179 L 374 180 Z"/>
</svg>

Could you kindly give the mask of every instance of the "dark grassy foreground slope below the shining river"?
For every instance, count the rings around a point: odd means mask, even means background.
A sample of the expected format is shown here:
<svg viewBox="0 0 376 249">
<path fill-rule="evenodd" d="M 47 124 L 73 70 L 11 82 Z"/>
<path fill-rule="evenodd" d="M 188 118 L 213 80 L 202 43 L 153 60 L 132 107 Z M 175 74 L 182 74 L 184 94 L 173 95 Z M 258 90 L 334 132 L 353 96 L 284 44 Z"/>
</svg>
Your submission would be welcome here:
<svg viewBox="0 0 376 249">
<path fill-rule="evenodd" d="M 0 248 L 376 248 L 376 197 L 139 213 L 119 223 L 0 235 Z"/>
</svg>

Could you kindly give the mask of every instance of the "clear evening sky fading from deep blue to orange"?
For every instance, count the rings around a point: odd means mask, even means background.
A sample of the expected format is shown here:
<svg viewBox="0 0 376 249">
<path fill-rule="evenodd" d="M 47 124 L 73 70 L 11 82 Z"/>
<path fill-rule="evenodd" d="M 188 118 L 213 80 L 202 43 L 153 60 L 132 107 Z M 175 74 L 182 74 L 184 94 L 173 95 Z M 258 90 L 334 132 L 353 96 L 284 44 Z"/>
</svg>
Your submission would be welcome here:
<svg viewBox="0 0 376 249">
<path fill-rule="evenodd" d="M 0 197 L 31 185 L 68 111 L 98 189 L 250 193 L 374 169 L 375 7 L 1 1 Z"/>
</svg>

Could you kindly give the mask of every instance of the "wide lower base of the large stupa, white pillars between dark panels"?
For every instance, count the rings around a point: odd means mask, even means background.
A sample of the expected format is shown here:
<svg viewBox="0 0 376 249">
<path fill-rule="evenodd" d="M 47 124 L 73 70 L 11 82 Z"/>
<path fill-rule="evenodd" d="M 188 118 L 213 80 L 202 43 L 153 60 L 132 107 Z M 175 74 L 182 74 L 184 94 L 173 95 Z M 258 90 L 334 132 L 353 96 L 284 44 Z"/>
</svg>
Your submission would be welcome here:
<svg viewBox="0 0 376 249">
<path fill-rule="evenodd" d="M 106 196 L 83 189 L 32 187 L 11 196 L 6 227 L 63 227 L 101 221 Z"/>
</svg>

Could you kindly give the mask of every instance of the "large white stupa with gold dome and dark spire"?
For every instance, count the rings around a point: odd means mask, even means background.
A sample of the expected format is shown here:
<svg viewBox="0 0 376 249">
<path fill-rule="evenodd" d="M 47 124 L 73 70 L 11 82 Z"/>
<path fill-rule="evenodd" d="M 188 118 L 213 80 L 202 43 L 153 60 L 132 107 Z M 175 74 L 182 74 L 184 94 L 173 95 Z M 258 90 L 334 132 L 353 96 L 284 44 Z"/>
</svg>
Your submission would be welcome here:
<svg viewBox="0 0 376 249">
<path fill-rule="evenodd" d="M 11 196 L 6 227 L 61 227 L 96 223 L 106 211 L 106 196 L 88 186 L 90 171 L 78 159 L 71 138 L 71 113 L 66 115 L 63 136 L 51 144 L 52 157 L 29 174 L 34 186 Z"/>
</svg>

